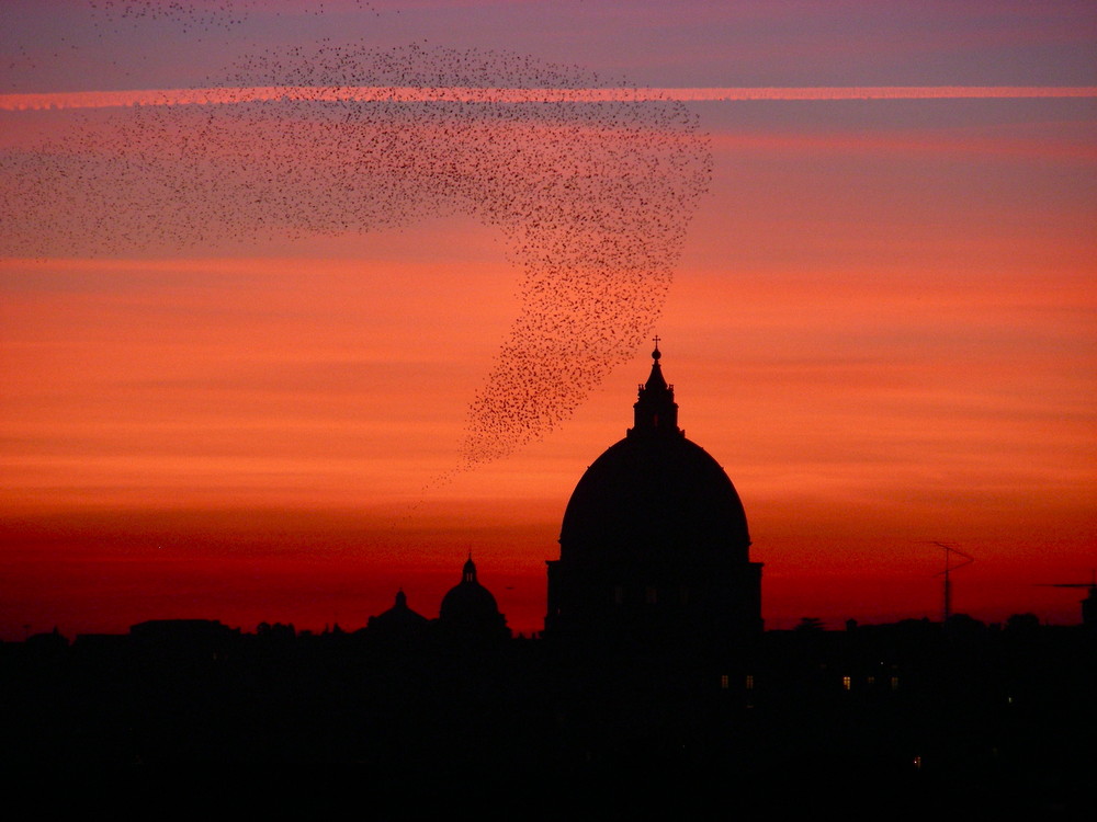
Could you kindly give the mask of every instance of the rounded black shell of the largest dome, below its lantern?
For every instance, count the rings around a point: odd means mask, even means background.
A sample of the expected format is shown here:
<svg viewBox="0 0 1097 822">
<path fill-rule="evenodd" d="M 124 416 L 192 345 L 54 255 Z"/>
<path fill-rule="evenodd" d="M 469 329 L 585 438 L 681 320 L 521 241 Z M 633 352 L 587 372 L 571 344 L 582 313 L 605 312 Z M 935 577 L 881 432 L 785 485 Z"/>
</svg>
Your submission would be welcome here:
<svg viewBox="0 0 1097 822">
<path fill-rule="evenodd" d="M 561 559 L 579 562 L 709 551 L 746 561 L 750 537 L 735 487 L 704 448 L 685 436 L 630 436 L 583 475 L 559 543 Z"/>
</svg>

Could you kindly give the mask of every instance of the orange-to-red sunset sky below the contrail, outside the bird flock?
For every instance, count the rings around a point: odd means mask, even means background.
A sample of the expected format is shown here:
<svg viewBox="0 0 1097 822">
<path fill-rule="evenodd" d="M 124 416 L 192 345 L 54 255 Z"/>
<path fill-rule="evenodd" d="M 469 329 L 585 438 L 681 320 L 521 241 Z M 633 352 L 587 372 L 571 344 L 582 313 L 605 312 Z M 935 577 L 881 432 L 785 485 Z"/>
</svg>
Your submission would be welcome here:
<svg viewBox="0 0 1097 822">
<path fill-rule="evenodd" d="M 950 82 L 987 83 L 971 73 Z M 31 90 L 68 89 L 10 89 Z M 937 618 L 934 541 L 976 558 L 957 610 L 1076 621 L 1084 592 L 1033 583 L 1097 564 L 1094 102 L 692 105 L 713 176 L 657 330 L 687 436 L 743 498 L 767 624 Z M 27 116 L 2 114 L 0 148 L 35 145 Z M 470 550 L 511 627 L 539 629 L 568 494 L 649 359 L 434 481 L 517 283 L 462 214 L 0 261 L 0 638 L 358 628 L 400 585 L 433 616 Z"/>
</svg>

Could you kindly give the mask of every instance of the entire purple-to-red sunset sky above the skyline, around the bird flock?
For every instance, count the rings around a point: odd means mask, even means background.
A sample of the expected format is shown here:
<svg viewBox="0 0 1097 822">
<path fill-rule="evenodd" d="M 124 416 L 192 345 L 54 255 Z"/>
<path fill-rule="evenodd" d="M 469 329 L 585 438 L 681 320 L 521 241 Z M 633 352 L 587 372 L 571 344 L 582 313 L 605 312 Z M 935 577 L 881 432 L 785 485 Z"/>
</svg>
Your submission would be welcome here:
<svg viewBox="0 0 1097 822">
<path fill-rule="evenodd" d="M 654 333 L 687 436 L 743 500 L 768 627 L 940 618 L 936 543 L 975 558 L 955 610 L 1078 621 L 1084 591 L 1037 583 L 1097 567 L 1093 3 L 179 5 L 0 4 L 0 639 L 169 617 L 357 629 L 400 586 L 433 617 L 470 551 L 511 628 L 539 630 L 567 499 L 631 424 Z M 240 93 L 210 84 L 224 67 L 343 43 L 576 67 L 598 80 L 574 95 L 682 101 L 711 152 L 704 191 L 668 206 L 685 233 L 665 299 L 656 282 L 630 292 L 661 305 L 629 318 L 643 342 L 508 456 L 463 450 L 525 310 L 510 235 L 482 214 L 428 193 L 367 231 L 226 238 L 199 209 L 185 228 L 206 240 L 104 249 L 146 217 L 89 214 L 75 167 L 52 165 L 79 145 L 139 187 L 144 149 L 92 146 L 110 117 L 213 123 L 241 105 L 217 102 Z M 256 163 L 284 149 L 255 142 Z M 310 202 L 329 160 L 291 163 L 287 198 Z M 59 170 L 9 173 L 26 163 Z M 373 178 L 348 180 L 370 202 Z"/>
</svg>

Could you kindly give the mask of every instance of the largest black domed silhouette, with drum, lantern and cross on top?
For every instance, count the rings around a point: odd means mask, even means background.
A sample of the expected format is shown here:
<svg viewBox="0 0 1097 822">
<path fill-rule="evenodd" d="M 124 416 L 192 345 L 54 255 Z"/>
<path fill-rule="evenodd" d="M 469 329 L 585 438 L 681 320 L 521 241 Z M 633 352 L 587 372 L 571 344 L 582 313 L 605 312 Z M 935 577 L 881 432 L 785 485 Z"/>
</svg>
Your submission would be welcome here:
<svg viewBox="0 0 1097 822">
<path fill-rule="evenodd" d="M 587 469 L 548 561 L 545 637 L 595 649 L 733 651 L 762 628 L 761 563 L 751 562 L 735 487 L 678 426 L 661 352 L 634 423 Z"/>
</svg>

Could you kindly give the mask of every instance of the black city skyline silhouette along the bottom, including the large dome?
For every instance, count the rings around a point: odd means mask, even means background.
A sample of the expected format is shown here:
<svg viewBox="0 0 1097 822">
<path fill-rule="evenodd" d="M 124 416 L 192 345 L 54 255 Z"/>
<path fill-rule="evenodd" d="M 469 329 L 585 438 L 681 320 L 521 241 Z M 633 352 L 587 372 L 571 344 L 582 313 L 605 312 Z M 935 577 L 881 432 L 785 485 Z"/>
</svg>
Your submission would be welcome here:
<svg viewBox="0 0 1097 822">
<path fill-rule="evenodd" d="M 568 503 L 542 637 L 510 637 L 470 557 L 437 619 L 402 591 L 353 632 L 161 620 L 0 644 L 0 796 L 146 818 L 1092 808 L 1092 625 L 762 632 L 743 506 L 677 410 L 656 355 Z"/>
</svg>

